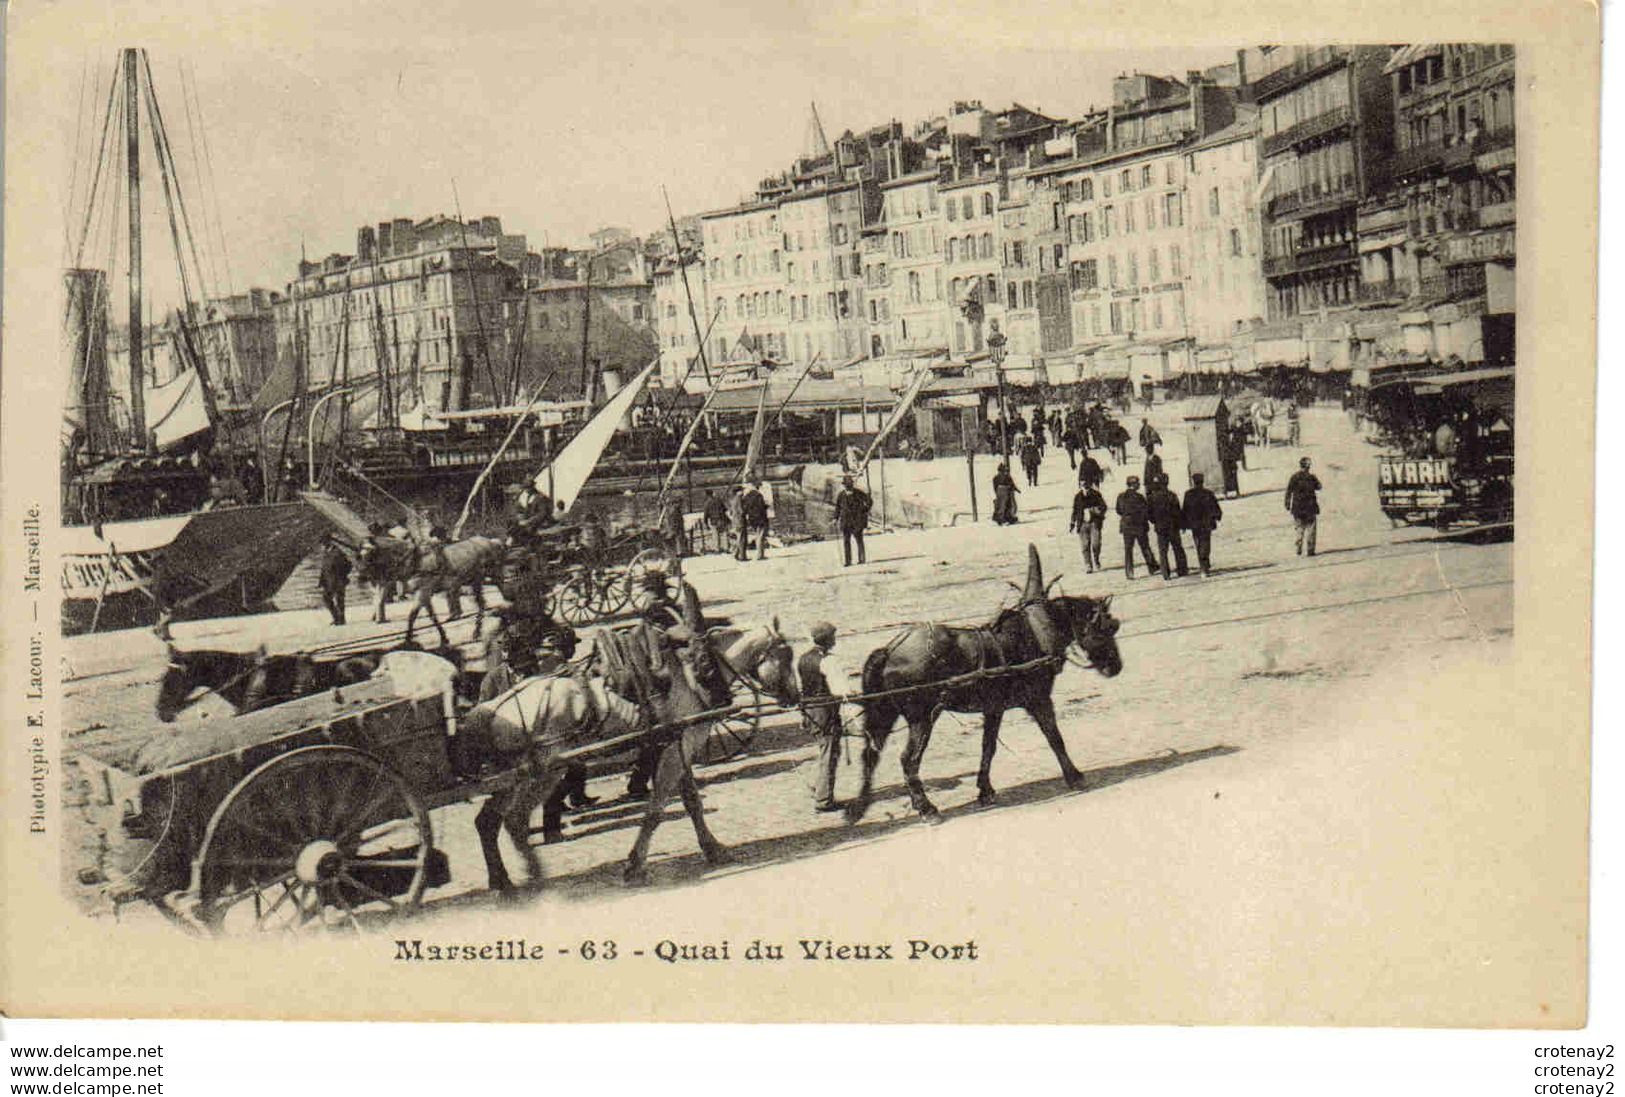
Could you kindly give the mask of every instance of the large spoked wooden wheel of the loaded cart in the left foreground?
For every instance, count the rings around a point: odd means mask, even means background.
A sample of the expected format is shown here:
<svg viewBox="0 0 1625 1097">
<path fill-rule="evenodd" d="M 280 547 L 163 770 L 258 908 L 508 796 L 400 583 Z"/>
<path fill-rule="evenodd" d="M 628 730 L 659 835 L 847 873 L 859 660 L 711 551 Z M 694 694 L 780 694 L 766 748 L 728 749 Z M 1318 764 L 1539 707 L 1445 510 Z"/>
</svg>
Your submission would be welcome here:
<svg viewBox="0 0 1625 1097">
<path fill-rule="evenodd" d="M 434 855 L 406 780 L 348 746 L 307 746 L 244 777 L 192 865 L 214 934 L 349 928 L 418 907 Z"/>
</svg>

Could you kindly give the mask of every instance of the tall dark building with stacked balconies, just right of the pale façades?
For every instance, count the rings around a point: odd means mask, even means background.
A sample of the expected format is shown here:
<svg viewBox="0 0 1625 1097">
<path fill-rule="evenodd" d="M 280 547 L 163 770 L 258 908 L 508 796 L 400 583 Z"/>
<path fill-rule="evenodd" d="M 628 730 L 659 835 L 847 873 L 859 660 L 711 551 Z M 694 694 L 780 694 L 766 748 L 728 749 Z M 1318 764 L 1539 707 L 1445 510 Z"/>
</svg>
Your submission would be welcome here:
<svg viewBox="0 0 1625 1097">
<path fill-rule="evenodd" d="M 1383 46 L 1243 52 L 1259 111 L 1271 319 L 1352 306 L 1360 202 L 1388 180 L 1393 94 Z"/>
</svg>

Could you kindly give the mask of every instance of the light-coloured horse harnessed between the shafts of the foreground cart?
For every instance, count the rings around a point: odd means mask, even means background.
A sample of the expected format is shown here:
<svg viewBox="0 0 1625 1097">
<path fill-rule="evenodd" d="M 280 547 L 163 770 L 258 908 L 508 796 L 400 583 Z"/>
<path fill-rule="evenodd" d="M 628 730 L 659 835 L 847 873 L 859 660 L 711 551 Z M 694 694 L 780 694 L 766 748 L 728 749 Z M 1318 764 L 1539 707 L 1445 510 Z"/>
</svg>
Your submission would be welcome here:
<svg viewBox="0 0 1625 1097">
<path fill-rule="evenodd" d="M 497 761 L 514 762 L 518 774 L 515 785 L 494 791 L 474 817 L 489 887 L 514 892 L 497 845 L 502 830 L 518 848 L 530 879 L 541 881 L 541 861 L 530 845 L 530 819 L 564 780 L 569 762 L 557 757 L 561 749 L 723 709 L 731 699 L 728 673 L 749 674 L 785 691 L 783 699 L 790 699 L 795 691 L 790 645 L 777 634 L 777 626 L 772 635 L 759 632 L 743 634 L 718 653 L 712 647 L 717 637 L 704 631 L 699 598 L 684 583 L 682 626 L 663 631 L 639 622 L 614 634 L 600 631 L 595 639 L 595 645 L 603 642 L 595 657 L 600 673 L 530 678 L 473 709 L 458 728 L 463 749 L 473 744 Z M 728 671 L 722 666 L 725 658 L 731 660 Z M 682 798 L 707 863 L 720 865 L 728 858 L 726 847 L 705 826 L 692 770 L 692 756 L 710 736 L 710 723 L 686 723 L 661 746 L 644 821 L 627 855 L 626 882 L 647 879 L 648 843 L 673 793 Z"/>
</svg>

